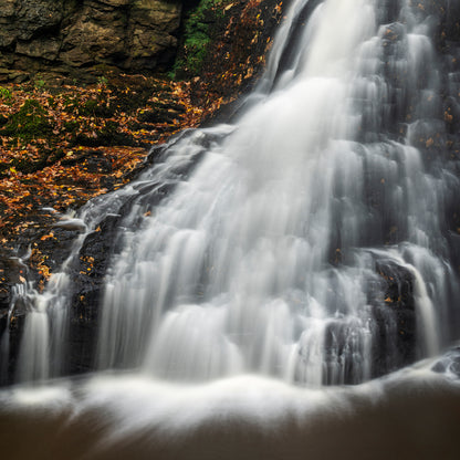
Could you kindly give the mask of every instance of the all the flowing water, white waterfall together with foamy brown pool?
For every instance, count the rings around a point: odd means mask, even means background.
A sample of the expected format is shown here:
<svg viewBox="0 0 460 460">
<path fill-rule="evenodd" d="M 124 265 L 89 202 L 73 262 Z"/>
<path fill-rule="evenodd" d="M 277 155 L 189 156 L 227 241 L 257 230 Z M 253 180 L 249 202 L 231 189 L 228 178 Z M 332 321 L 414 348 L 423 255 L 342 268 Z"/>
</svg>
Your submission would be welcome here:
<svg viewBox="0 0 460 460">
<path fill-rule="evenodd" d="M 431 22 L 410 1 L 325 0 L 300 27 L 309 4 L 293 3 L 237 123 L 186 133 L 82 210 L 91 232 L 130 203 L 97 351 L 122 373 L 46 380 L 67 358 L 66 270 L 86 233 L 43 295 L 18 288 L 18 377 L 35 388 L 0 391 L 6 458 L 458 458 L 458 348 L 323 386 L 458 338 L 445 217 L 460 184 L 417 148 L 447 139 Z"/>
</svg>

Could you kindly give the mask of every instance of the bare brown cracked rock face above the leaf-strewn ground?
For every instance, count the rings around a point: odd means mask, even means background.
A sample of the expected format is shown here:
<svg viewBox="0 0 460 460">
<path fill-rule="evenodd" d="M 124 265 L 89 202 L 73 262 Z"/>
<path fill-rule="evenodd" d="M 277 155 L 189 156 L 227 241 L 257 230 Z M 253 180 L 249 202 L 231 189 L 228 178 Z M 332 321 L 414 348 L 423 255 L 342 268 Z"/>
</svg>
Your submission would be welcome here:
<svg viewBox="0 0 460 460">
<path fill-rule="evenodd" d="M 0 81 L 50 66 L 76 79 L 95 66 L 164 70 L 180 13 L 175 0 L 0 0 Z"/>
</svg>

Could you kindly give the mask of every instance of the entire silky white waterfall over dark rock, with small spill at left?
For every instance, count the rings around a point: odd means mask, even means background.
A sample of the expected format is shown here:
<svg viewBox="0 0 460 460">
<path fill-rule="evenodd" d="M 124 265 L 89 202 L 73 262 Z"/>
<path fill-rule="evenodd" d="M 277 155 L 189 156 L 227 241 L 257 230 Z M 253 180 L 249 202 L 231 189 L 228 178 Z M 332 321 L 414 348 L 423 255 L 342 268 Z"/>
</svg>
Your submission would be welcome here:
<svg viewBox="0 0 460 460">
<path fill-rule="evenodd" d="M 458 338 L 457 86 L 412 3 L 294 1 L 233 124 L 184 133 L 81 211 L 87 231 L 34 294 L 20 379 L 60 375 L 69 266 L 114 216 L 98 370 L 358 384 Z"/>
</svg>

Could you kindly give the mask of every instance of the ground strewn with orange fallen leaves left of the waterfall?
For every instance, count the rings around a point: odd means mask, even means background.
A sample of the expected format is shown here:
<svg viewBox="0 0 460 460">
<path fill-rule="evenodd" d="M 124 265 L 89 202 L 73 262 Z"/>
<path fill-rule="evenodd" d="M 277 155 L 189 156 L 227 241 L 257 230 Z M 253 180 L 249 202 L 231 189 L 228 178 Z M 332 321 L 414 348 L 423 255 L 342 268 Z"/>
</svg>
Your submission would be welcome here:
<svg viewBox="0 0 460 460">
<path fill-rule="evenodd" d="M 222 102 L 192 104 L 190 93 L 189 82 L 144 75 L 0 86 L 0 255 L 34 241 L 32 265 L 48 279 L 36 242 L 53 237 L 55 222 L 128 182 L 154 145 Z"/>
</svg>

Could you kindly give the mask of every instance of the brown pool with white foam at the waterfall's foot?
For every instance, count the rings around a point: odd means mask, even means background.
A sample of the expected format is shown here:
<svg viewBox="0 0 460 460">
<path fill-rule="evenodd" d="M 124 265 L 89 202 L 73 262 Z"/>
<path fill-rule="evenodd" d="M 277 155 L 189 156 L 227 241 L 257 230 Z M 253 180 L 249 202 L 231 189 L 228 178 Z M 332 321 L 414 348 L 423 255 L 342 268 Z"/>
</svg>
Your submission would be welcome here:
<svg viewBox="0 0 460 460">
<path fill-rule="evenodd" d="M 0 393 L 0 448 L 35 460 L 458 459 L 460 380 L 432 367 L 321 389 L 138 374 L 14 387 Z"/>
</svg>

